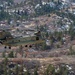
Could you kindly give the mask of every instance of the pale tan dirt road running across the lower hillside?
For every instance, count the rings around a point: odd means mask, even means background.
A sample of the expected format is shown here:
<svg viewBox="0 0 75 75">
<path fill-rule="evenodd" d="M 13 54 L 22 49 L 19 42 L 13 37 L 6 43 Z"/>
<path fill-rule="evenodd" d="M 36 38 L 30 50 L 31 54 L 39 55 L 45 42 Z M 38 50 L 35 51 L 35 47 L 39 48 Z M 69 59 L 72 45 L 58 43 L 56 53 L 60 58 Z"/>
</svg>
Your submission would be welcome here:
<svg viewBox="0 0 75 75">
<path fill-rule="evenodd" d="M 4 58 L 0 58 L 0 61 Z M 48 57 L 48 58 L 8 58 L 11 62 L 24 62 L 24 61 L 39 61 L 40 64 L 56 64 L 56 63 L 75 63 L 75 56 L 61 56 L 61 57 Z"/>
</svg>

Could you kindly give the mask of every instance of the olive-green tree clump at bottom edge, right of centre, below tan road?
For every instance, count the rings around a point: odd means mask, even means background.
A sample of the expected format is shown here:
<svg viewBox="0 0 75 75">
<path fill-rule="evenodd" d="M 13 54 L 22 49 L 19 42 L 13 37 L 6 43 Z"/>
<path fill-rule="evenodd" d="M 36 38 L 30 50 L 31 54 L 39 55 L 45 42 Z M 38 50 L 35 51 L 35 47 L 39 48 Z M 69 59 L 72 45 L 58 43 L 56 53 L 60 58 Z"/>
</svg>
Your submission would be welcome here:
<svg viewBox="0 0 75 75">
<path fill-rule="evenodd" d="M 63 64 L 62 64 L 63 65 Z M 48 68 L 46 69 L 44 75 L 68 75 L 69 71 L 66 67 L 64 66 L 59 66 L 58 68 L 55 68 L 53 65 L 49 65 Z"/>
</svg>

